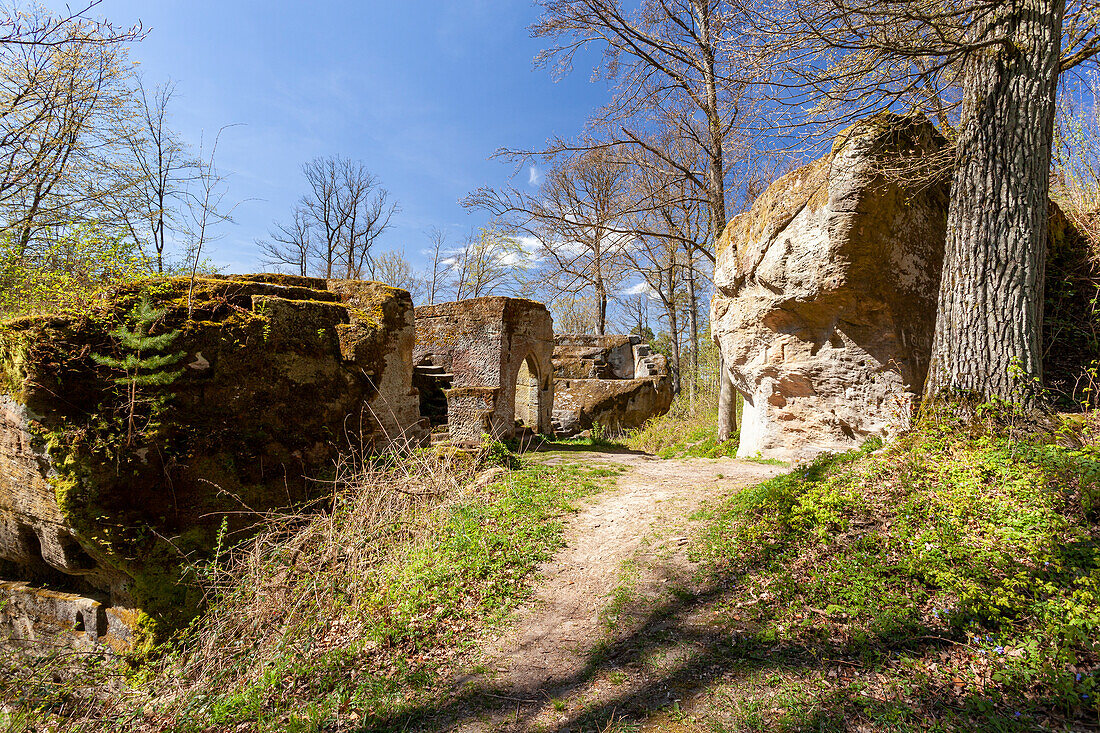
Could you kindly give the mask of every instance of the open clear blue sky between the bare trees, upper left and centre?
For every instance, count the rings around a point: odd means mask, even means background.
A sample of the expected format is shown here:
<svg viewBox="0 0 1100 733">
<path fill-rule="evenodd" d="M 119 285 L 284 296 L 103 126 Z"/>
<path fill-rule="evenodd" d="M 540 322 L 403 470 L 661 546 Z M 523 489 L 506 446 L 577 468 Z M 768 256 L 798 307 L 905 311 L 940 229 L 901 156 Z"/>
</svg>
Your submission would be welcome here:
<svg viewBox="0 0 1100 733">
<path fill-rule="evenodd" d="M 427 228 L 457 241 L 484 223 L 458 201 L 508 183 L 496 149 L 574 135 L 606 99 L 591 65 L 558 83 L 532 68 L 542 41 L 526 0 L 105 0 L 94 13 L 150 29 L 131 58 L 148 86 L 176 81 L 173 124 L 189 142 L 239 125 L 218 164 L 242 203 L 210 253 L 229 272 L 261 267 L 254 240 L 305 193 L 301 163 L 328 154 L 381 178 L 402 211 L 380 247 L 419 264 Z"/>
</svg>

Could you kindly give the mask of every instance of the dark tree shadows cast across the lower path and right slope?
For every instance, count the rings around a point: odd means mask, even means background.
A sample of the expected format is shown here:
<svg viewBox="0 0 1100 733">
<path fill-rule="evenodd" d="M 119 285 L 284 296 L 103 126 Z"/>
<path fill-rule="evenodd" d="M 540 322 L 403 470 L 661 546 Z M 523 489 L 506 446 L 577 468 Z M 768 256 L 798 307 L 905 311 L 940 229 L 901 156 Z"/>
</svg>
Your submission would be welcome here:
<svg viewBox="0 0 1100 733">
<path fill-rule="evenodd" d="M 676 593 L 645 614 L 630 633 L 598 644 L 585 665 L 570 675 L 551 676 L 543 683 L 524 688 L 503 687 L 483 679 L 453 690 L 441 702 L 376 719 L 362 730 L 452 730 L 476 721 L 494 731 L 530 730 L 549 702 L 566 699 L 603 676 L 624 669 L 646 669 L 654 658 L 671 657 L 671 664 L 642 675 L 641 683 L 624 686 L 620 691 L 602 696 L 595 704 L 580 710 L 559 711 L 552 724 L 547 724 L 543 718 L 535 727 L 558 733 L 637 730 L 629 725 L 717 683 L 728 687 L 768 671 L 822 674 L 837 665 L 864 664 L 867 672 L 875 674 L 886 669 L 899 653 L 931 656 L 957 644 L 936 636 L 932 630 L 895 628 L 859 644 L 769 645 L 755 638 L 751 632 L 735 634 L 698 621 L 737 593 L 738 589 L 728 584 L 712 586 L 698 593 Z M 867 661 L 869 654 L 873 661 Z M 791 711 L 774 730 L 844 731 L 854 730 L 858 721 L 876 727 L 904 730 L 909 724 L 924 730 L 930 711 L 933 715 L 958 719 L 967 730 L 1034 730 L 1034 720 L 1014 712 L 1034 705 L 1034 701 L 994 701 L 979 689 L 956 693 L 931 678 L 912 682 L 906 694 L 897 699 L 865 697 L 850 689 L 827 691 L 804 708 Z M 924 712 L 914 713 L 911 709 L 914 699 L 921 701 Z M 761 723 L 757 730 L 773 730 L 774 724 L 774 720 Z"/>
</svg>

